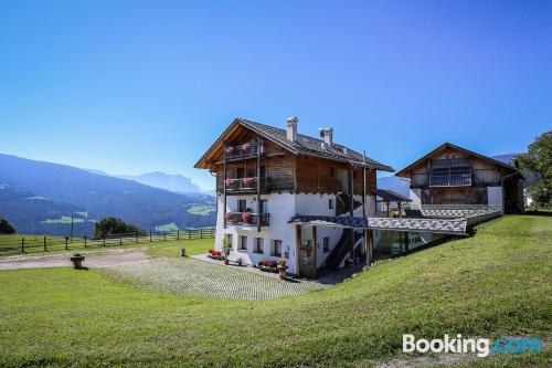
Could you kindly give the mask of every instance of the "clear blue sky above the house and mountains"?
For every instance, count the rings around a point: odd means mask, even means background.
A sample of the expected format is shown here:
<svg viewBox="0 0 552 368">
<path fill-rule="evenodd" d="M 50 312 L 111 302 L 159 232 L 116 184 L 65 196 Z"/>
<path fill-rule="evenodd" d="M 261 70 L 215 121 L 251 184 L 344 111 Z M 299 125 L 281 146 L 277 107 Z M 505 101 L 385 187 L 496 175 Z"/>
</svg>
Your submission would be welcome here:
<svg viewBox="0 0 552 368">
<path fill-rule="evenodd" d="M 0 153 L 112 174 L 193 164 L 235 116 L 400 169 L 552 128 L 552 1 L 0 1 Z"/>
</svg>

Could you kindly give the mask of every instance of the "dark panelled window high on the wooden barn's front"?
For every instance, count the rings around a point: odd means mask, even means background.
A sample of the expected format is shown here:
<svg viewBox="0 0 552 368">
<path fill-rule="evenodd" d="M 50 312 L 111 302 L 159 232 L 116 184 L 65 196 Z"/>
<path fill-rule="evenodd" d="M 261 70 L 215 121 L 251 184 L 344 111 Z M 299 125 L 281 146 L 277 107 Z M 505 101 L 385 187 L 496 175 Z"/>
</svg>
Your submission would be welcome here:
<svg viewBox="0 0 552 368">
<path fill-rule="evenodd" d="M 469 158 L 447 158 L 432 161 L 429 187 L 471 186 L 471 160 Z"/>
</svg>

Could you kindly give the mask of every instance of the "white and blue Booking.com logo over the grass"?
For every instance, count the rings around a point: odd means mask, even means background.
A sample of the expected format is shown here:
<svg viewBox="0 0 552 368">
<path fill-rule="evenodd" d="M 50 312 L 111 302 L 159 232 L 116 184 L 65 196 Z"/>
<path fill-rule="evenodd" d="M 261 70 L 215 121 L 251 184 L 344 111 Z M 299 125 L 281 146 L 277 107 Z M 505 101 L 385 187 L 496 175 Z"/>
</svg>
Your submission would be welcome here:
<svg viewBox="0 0 552 368">
<path fill-rule="evenodd" d="M 542 353 L 542 341 L 539 338 L 499 338 L 492 345 L 488 338 L 463 338 L 457 334 L 456 338 L 445 335 L 444 338 L 416 339 L 414 335 L 403 335 L 404 353 L 476 353 L 478 357 L 489 354 L 519 354 Z"/>
</svg>

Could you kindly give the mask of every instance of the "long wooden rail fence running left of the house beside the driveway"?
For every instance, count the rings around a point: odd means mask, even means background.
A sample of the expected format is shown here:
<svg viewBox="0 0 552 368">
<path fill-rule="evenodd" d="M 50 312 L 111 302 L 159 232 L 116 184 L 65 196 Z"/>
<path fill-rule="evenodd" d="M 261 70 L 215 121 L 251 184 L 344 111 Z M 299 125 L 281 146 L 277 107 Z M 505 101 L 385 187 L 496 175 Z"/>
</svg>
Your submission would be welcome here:
<svg viewBox="0 0 552 368">
<path fill-rule="evenodd" d="M 214 238 L 214 228 L 177 230 L 171 232 L 149 231 L 146 234 L 126 233 L 94 236 L 39 236 L 39 235 L 0 235 L 0 254 L 4 252 L 52 251 L 70 249 L 88 249 L 113 246 L 130 243 L 149 243 L 156 241 L 193 240 Z"/>
</svg>

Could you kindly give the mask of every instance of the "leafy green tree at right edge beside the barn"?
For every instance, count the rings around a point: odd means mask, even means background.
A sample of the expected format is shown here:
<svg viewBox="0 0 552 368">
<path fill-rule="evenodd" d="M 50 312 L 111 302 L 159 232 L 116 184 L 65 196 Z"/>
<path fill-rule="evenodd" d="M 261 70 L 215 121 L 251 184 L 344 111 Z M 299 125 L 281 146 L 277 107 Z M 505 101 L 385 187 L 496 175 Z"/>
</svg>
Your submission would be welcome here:
<svg viewBox="0 0 552 368">
<path fill-rule="evenodd" d="M 535 182 L 529 187 L 539 207 L 551 206 L 552 194 L 552 130 L 543 133 L 531 145 L 528 153 L 518 157 L 522 168 L 537 174 Z"/>
</svg>

